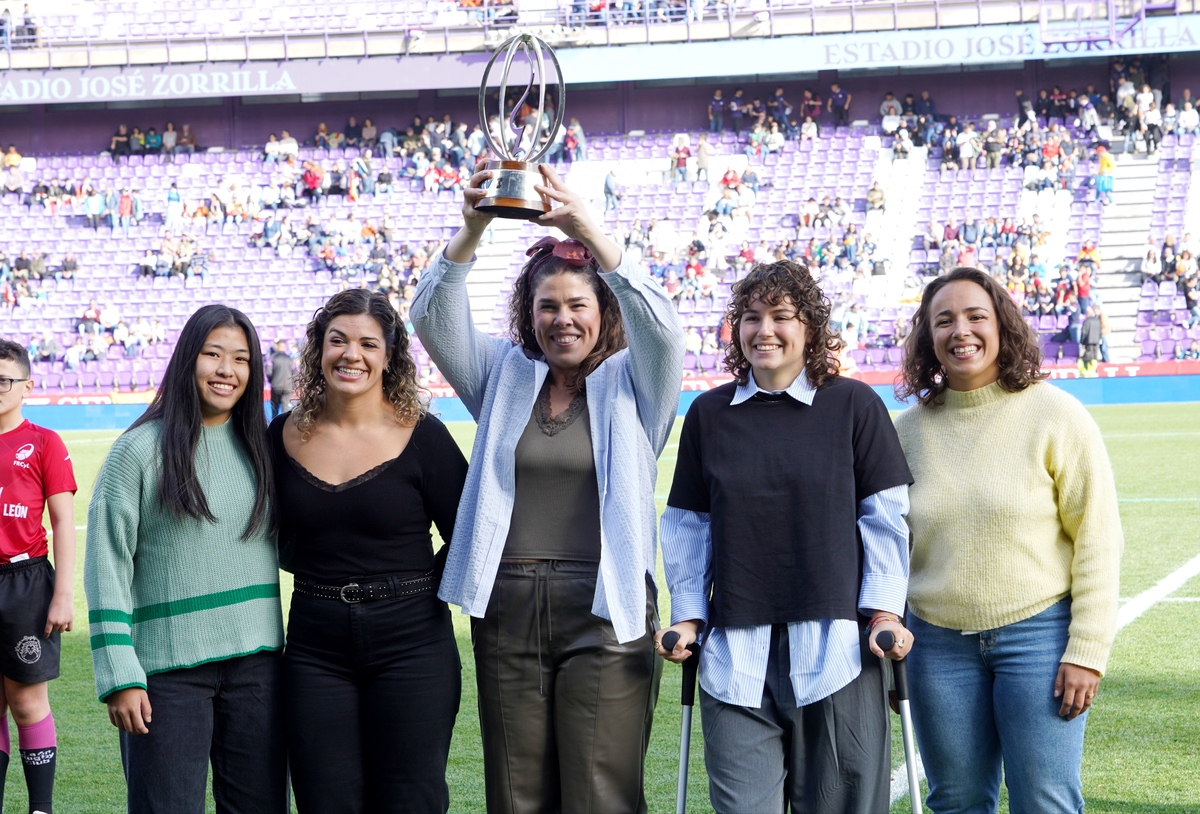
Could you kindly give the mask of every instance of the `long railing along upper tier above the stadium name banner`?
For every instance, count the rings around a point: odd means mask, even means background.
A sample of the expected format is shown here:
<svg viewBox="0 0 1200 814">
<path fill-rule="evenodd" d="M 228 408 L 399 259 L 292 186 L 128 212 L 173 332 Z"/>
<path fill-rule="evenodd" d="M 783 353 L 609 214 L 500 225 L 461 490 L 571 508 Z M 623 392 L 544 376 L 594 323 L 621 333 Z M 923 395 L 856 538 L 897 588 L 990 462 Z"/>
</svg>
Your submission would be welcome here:
<svg viewBox="0 0 1200 814">
<path fill-rule="evenodd" d="M 227 20 L 220 32 L 205 29 L 194 36 L 156 32 L 151 23 L 127 25 L 120 36 L 103 25 L 72 26 L 66 32 L 47 25 L 31 47 L 10 42 L 0 48 L 0 71 L 478 52 L 498 44 L 515 25 L 535 30 L 558 47 L 1033 22 L 1040 24 L 1045 42 L 1115 41 L 1147 13 L 1193 12 L 1196 0 L 1132 0 L 1126 4 L 1129 8 L 1122 8 L 1121 0 L 596 0 L 596 7 L 592 0 L 552 2 L 444 2 L 432 11 L 426 2 L 412 0 L 358 4 L 358 16 L 314 17 L 313 28 L 305 28 L 307 18 L 296 25 L 295 17 L 278 20 L 263 17 L 271 12 L 259 10 L 247 12 L 251 17 L 245 19 Z M 192 22 L 199 28 L 216 25 L 194 14 Z M 322 23 L 326 25 L 317 28 Z M 174 31 L 179 26 L 163 24 Z"/>
</svg>

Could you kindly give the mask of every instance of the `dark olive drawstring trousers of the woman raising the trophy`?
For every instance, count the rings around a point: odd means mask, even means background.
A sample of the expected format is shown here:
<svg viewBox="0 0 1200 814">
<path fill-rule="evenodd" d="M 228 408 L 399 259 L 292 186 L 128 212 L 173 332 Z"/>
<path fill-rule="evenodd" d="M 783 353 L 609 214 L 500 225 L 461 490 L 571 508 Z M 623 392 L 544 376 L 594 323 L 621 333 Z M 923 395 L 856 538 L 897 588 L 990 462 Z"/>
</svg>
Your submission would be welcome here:
<svg viewBox="0 0 1200 814">
<path fill-rule="evenodd" d="M 596 563 L 502 562 L 472 621 L 488 814 L 644 814 L 662 659 L 592 615 Z"/>
</svg>

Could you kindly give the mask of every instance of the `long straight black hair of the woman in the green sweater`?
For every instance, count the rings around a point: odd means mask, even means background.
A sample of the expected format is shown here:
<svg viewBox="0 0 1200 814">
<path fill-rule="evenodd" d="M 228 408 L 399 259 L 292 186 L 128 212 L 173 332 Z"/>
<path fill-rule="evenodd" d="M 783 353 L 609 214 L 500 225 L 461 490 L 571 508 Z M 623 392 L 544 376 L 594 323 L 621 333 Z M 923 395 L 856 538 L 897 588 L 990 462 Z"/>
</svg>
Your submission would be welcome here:
<svg viewBox="0 0 1200 814">
<path fill-rule="evenodd" d="M 161 419 L 158 499 L 176 517 L 215 522 L 216 515 L 209 508 L 196 477 L 196 445 L 200 441 L 202 426 L 200 396 L 196 390 L 196 360 L 209 334 L 217 328 L 240 329 L 250 347 L 250 379 L 230 417 L 234 432 L 254 471 L 254 510 L 241 534 L 245 540 L 254 532 L 274 531 L 275 525 L 271 517 L 275 479 L 271 474 L 271 450 L 266 442 L 266 419 L 263 417 L 263 354 L 258 331 L 245 313 L 226 305 L 205 305 L 187 319 L 175 351 L 170 354 L 170 361 L 167 363 L 158 393 L 130 430 Z"/>
</svg>

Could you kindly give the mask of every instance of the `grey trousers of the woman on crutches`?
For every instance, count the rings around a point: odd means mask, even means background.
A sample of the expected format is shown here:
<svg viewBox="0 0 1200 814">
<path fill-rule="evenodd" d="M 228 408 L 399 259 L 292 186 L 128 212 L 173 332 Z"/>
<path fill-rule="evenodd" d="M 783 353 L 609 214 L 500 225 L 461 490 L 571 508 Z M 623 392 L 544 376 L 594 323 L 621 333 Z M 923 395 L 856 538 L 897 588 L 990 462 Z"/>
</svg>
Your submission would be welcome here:
<svg viewBox="0 0 1200 814">
<path fill-rule="evenodd" d="M 787 626 L 772 630 L 757 708 L 701 689 L 708 792 L 716 814 L 881 814 L 889 809 L 892 742 L 883 668 L 803 707 L 788 676 Z"/>
</svg>

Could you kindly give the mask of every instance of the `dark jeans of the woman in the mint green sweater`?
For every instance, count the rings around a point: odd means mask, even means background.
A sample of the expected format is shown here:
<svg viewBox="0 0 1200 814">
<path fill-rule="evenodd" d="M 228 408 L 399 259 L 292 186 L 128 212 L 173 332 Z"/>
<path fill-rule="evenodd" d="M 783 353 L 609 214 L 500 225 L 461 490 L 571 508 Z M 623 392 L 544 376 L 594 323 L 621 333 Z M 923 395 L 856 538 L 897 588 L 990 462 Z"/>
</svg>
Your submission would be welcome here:
<svg viewBox="0 0 1200 814">
<path fill-rule="evenodd" d="M 121 732 L 128 814 L 284 814 L 280 654 L 253 653 L 146 678 L 148 735 Z"/>
</svg>

